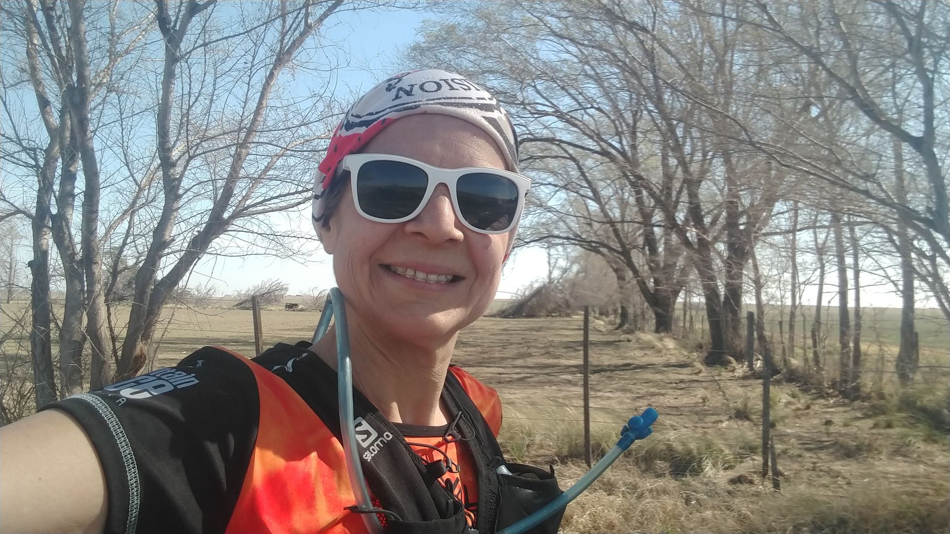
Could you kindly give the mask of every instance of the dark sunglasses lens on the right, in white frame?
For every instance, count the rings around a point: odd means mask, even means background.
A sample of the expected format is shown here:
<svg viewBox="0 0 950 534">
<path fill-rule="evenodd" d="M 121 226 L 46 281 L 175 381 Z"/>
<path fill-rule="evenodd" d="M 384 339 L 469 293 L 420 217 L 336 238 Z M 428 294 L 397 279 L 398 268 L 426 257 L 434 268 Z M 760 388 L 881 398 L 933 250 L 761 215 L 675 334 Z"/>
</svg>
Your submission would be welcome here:
<svg viewBox="0 0 950 534">
<path fill-rule="evenodd" d="M 462 217 L 475 228 L 502 231 L 511 227 L 518 211 L 518 186 L 490 173 L 463 175 L 456 184 Z"/>
</svg>

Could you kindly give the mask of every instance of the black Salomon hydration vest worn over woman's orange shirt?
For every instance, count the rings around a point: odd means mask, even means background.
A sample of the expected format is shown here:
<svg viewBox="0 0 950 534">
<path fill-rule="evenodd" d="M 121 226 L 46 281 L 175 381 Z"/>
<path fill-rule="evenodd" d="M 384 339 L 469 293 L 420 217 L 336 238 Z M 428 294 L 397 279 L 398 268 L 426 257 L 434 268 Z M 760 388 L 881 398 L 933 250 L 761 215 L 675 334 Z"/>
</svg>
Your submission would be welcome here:
<svg viewBox="0 0 950 534">
<path fill-rule="evenodd" d="M 309 342 L 296 346 L 278 344 L 253 361 L 283 378 L 314 413 L 342 441 L 337 407 L 336 372 L 315 353 Z M 462 534 L 466 532 L 465 510 L 439 483 L 409 447 L 406 439 L 360 391 L 353 389 L 353 412 L 361 467 L 382 507 L 399 516 L 387 518 L 388 534 Z M 443 388 L 456 432 L 466 442 L 475 461 L 479 483 L 476 529 L 492 534 L 514 524 L 561 495 L 553 469 L 507 464 L 512 475 L 499 474 L 504 454 L 482 412 L 468 396 L 458 378 L 449 371 Z M 365 424 L 365 425 L 364 425 Z M 364 445 L 365 444 L 365 445 Z M 561 513 L 531 529 L 529 534 L 556 534 Z"/>
</svg>

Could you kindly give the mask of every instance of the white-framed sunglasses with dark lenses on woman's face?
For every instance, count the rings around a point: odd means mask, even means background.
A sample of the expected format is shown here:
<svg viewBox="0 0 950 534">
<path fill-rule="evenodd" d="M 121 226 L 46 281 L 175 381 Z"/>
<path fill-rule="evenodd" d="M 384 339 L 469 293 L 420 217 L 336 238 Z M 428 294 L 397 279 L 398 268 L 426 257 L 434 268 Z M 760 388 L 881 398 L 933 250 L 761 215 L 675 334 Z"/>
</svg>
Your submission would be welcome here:
<svg viewBox="0 0 950 534">
<path fill-rule="evenodd" d="M 485 167 L 444 169 L 390 154 L 351 154 L 356 211 L 376 222 L 406 222 L 422 213 L 436 185 L 445 183 L 455 215 L 481 234 L 504 234 L 522 216 L 531 181 L 520 174 Z"/>
</svg>

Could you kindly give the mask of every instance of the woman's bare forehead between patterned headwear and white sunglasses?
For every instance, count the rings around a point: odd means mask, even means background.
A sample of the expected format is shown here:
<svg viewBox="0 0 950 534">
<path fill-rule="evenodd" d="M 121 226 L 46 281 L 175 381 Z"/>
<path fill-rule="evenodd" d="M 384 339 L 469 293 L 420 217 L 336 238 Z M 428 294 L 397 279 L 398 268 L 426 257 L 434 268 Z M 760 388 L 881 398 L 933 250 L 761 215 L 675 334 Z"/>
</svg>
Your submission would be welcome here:
<svg viewBox="0 0 950 534">
<path fill-rule="evenodd" d="M 506 168 L 504 153 L 485 130 L 449 115 L 424 113 L 388 124 L 360 150 L 393 154 L 444 168 Z"/>
</svg>

